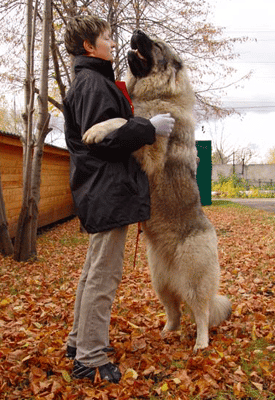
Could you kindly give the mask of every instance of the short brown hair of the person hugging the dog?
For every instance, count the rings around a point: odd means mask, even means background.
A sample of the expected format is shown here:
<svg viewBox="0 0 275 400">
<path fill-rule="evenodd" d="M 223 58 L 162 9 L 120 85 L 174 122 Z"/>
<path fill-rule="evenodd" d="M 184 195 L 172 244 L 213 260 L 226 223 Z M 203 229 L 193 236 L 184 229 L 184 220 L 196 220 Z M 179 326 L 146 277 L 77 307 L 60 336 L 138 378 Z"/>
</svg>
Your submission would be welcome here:
<svg viewBox="0 0 275 400">
<path fill-rule="evenodd" d="M 87 40 L 92 46 L 104 31 L 111 31 L 109 22 L 95 16 L 83 15 L 71 18 L 66 26 L 64 42 L 69 54 L 78 56 L 85 54 L 83 43 Z"/>
</svg>

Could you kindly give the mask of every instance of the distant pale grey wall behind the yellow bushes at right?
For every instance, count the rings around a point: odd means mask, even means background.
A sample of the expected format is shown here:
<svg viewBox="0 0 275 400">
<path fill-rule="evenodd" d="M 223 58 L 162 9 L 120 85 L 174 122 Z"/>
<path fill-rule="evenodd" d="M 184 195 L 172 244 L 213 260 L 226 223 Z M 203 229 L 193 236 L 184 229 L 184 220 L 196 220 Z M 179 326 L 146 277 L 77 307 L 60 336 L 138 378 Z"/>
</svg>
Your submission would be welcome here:
<svg viewBox="0 0 275 400">
<path fill-rule="evenodd" d="M 220 175 L 229 177 L 233 172 L 251 186 L 275 185 L 275 164 L 237 164 L 234 167 L 232 164 L 214 164 L 212 165 L 212 181 L 217 182 Z"/>
</svg>

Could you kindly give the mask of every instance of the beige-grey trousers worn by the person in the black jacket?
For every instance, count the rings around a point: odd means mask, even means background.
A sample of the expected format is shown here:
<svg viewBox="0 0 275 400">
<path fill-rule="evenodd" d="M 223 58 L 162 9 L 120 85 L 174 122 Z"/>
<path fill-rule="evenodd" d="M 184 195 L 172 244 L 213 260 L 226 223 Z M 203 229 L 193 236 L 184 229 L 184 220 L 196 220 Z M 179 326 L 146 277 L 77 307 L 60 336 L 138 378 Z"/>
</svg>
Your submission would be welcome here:
<svg viewBox="0 0 275 400">
<path fill-rule="evenodd" d="M 109 345 L 111 307 L 122 278 L 127 230 L 125 226 L 90 235 L 67 343 L 77 348 L 76 359 L 85 366 L 109 362 L 102 349 Z"/>
</svg>

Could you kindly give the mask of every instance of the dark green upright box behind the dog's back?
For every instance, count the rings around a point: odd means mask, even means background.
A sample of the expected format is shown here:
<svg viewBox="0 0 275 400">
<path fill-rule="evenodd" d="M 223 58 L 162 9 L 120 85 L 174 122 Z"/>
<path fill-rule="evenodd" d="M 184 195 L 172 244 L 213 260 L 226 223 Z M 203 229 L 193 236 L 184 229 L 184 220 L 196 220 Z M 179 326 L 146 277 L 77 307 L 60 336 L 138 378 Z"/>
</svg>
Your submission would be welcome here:
<svg viewBox="0 0 275 400">
<path fill-rule="evenodd" d="M 196 147 L 199 157 L 199 165 L 197 169 L 197 183 L 200 190 L 201 204 L 210 206 L 211 200 L 211 140 L 198 140 Z"/>
</svg>

